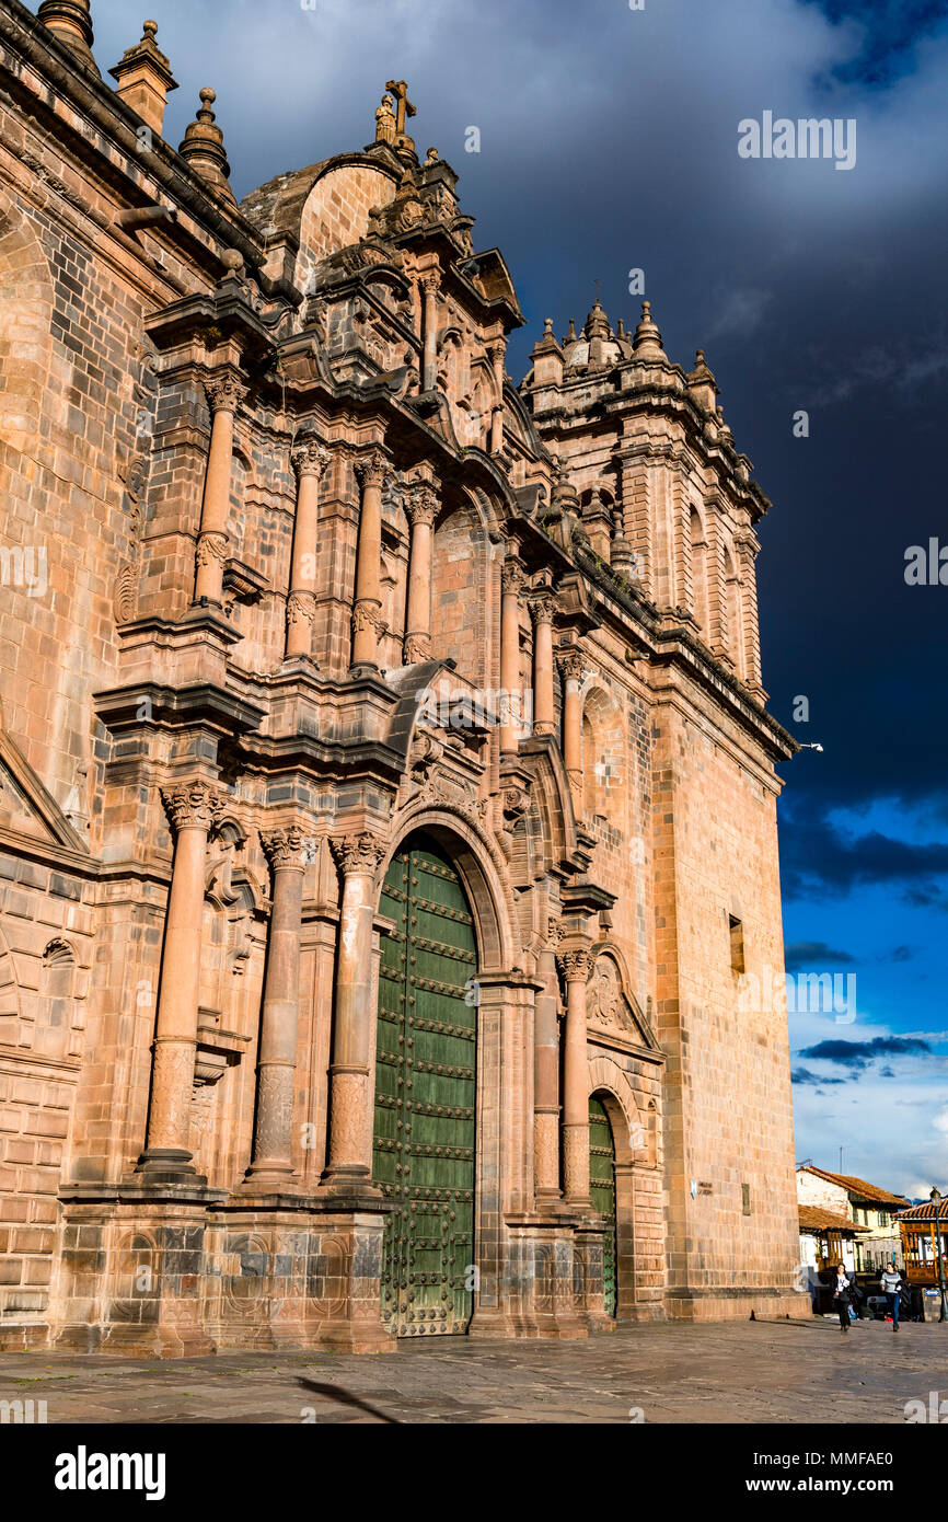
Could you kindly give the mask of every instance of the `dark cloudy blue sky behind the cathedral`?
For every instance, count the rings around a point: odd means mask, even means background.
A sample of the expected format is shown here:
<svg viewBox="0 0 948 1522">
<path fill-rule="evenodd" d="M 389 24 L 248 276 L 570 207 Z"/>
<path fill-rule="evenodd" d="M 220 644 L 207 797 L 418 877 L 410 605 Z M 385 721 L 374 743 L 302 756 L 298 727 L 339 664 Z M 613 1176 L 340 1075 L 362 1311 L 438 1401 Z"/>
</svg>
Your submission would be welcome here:
<svg viewBox="0 0 948 1522">
<path fill-rule="evenodd" d="M 137 41 L 93 0 L 102 68 Z M 775 507 L 758 560 L 775 715 L 819 740 L 782 769 L 794 968 L 857 977 L 857 1018 L 791 1017 L 797 1158 L 913 1195 L 948 1189 L 948 586 L 910 587 L 910 545 L 948 543 L 948 3 L 931 0 L 154 0 L 181 82 L 178 142 L 218 90 L 239 196 L 373 135 L 390 78 L 418 148 L 461 174 L 530 329 L 583 321 L 593 280 L 638 318 L 645 271 L 666 352 L 697 345 Z M 857 164 L 755 161 L 738 122 L 855 119 Z M 470 125 L 481 152 L 464 151 Z M 793 414 L 810 416 L 794 438 Z M 806 696 L 810 720 L 793 721 Z M 902 1043 L 899 1046 L 899 1043 Z"/>
</svg>

